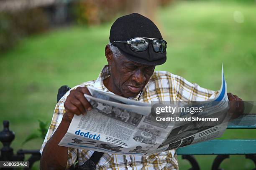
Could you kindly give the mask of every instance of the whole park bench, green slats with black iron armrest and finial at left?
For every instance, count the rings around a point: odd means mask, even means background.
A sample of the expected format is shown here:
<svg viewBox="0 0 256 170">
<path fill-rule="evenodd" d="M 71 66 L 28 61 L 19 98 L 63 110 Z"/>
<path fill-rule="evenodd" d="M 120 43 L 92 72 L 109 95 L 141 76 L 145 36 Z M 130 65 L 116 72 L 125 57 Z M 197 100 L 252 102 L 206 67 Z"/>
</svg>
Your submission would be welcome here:
<svg viewBox="0 0 256 170">
<path fill-rule="evenodd" d="M 69 89 L 68 86 L 61 86 L 57 95 L 57 101 L 59 101 Z M 25 155 L 31 155 L 28 159 L 29 168 L 24 168 L 28 170 L 31 169 L 33 163 L 41 158 L 39 150 L 18 150 L 17 154 L 14 155 L 10 143 L 14 140 L 15 135 L 9 130 L 8 121 L 4 121 L 3 124 L 4 129 L 0 132 L 0 141 L 3 143 L 0 161 L 23 161 Z M 228 129 L 256 129 L 256 114 L 242 116 L 229 122 Z M 221 170 L 220 164 L 223 160 L 229 158 L 229 155 L 245 155 L 245 157 L 252 160 L 256 166 L 256 139 L 209 140 L 178 148 L 177 155 L 182 155 L 182 159 L 189 161 L 192 166 L 189 170 L 200 170 L 200 166 L 193 155 L 217 155 L 212 163 L 212 170 Z M 253 170 L 256 170 L 256 168 Z"/>
</svg>

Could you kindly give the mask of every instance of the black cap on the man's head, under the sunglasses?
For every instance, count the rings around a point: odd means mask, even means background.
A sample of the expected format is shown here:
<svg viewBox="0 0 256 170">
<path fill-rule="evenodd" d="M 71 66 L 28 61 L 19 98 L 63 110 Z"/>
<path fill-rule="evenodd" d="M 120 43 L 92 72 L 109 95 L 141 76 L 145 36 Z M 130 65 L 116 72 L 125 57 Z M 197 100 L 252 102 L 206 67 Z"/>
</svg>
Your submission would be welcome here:
<svg viewBox="0 0 256 170">
<path fill-rule="evenodd" d="M 138 13 L 125 15 L 115 20 L 110 29 L 109 40 L 126 41 L 133 37 L 149 37 L 163 39 L 159 29 L 148 18 Z M 161 65 L 166 61 L 166 51 L 157 53 L 152 44 L 148 45 L 145 51 L 131 50 L 130 44 L 113 43 L 120 52 L 129 60 L 146 65 Z"/>
</svg>

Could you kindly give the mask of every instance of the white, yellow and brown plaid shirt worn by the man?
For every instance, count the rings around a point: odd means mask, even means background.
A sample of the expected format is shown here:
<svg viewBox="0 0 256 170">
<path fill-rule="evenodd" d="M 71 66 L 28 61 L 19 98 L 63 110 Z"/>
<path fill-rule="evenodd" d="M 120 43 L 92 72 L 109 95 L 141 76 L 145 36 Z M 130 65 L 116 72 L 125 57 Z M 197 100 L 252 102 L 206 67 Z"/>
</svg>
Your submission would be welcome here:
<svg viewBox="0 0 256 170">
<path fill-rule="evenodd" d="M 105 65 L 100 72 L 97 80 L 84 82 L 77 85 L 79 86 L 93 86 L 105 91 L 108 89 L 104 86 L 103 80 L 110 75 L 110 67 Z M 151 76 L 147 85 L 143 91 L 136 97 L 130 98 L 132 100 L 138 100 L 141 102 L 151 103 L 152 101 L 204 101 L 215 96 L 214 91 L 207 90 L 200 87 L 197 84 L 192 84 L 184 78 L 173 75 L 166 71 L 156 71 Z M 57 103 L 54 111 L 54 115 L 51 120 L 51 125 L 46 134 L 44 143 L 41 147 L 40 153 L 42 153 L 45 144 L 54 134 L 58 128 L 62 116 L 65 113 L 64 102 L 69 95 L 67 92 Z M 76 148 L 68 148 L 68 161 L 67 168 L 69 168 L 74 162 L 79 161 L 79 165 L 85 163 L 92 153 L 92 150 L 82 150 Z M 99 163 L 97 164 L 97 170 L 128 170 L 128 169 L 154 169 L 154 170 L 178 170 L 178 160 L 175 150 L 169 150 L 162 153 L 150 155 L 147 157 L 137 155 L 115 155 L 104 153 Z"/>
</svg>

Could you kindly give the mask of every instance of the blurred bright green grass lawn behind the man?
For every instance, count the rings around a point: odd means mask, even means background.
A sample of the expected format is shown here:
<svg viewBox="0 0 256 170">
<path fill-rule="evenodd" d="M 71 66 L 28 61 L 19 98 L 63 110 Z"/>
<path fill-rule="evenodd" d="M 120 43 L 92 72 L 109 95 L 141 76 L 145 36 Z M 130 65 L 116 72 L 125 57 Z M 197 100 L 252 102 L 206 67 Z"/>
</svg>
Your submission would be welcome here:
<svg viewBox="0 0 256 170">
<path fill-rule="evenodd" d="M 243 15 L 238 15 L 243 23 L 235 22 L 235 11 Z M 168 59 L 156 70 L 167 70 L 218 90 L 223 63 L 228 91 L 244 100 L 256 100 L 255 4 L 179 2 L 161 8 L 157 14 L 157 25 L 168 42 Z M 72 87 L 97 78 L 107 63 L 104 49 L 110 26 L 52 30 L 27 37 L 0 56 L 0 122 L 10 120 L 15 151 L 40 148 L 41 140 L 21 143 L 36 131 L 38 119 L 51 120 L 61 85 Z M 227 130 L 222 138 L 255 137 L 255 130 Z M 215 157 L 196 158 L 205 170 L 210 169 Z M 181 170 L 189 168 L 181 158 L 179 164 Z M 231 156 L 222 167 L 251 170 L 253 163 L 244 156 Z"/>
</svg>

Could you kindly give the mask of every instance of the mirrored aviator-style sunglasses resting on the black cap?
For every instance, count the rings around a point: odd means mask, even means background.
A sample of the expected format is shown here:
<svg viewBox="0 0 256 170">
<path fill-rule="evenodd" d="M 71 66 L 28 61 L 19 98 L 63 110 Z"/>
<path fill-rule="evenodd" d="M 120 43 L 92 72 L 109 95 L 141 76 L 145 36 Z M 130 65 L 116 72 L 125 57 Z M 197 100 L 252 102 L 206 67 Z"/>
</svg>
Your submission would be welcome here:
<svg viewBox="0 0 256 170">
<path fill-rule="evenodd" d="M 136 37 L 128 41 L 113 41 L 112 43 L 114 42 L 131 44 L 131 49 L 134 51 L 145 51 L 150 42 L 155 52 L 163 53 L 167 48 L 167 42 L 157 38 Z"/>
</svg>

